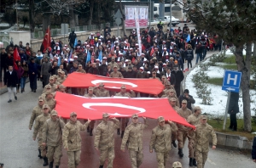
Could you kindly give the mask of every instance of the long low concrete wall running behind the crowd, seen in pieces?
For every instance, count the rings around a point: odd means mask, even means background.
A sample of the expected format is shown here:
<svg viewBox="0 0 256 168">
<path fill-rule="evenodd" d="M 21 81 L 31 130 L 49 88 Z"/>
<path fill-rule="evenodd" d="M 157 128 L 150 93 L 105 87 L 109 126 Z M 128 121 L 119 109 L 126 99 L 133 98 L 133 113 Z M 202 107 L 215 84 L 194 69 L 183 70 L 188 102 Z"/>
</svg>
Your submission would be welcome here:
<svg viewBox="0 0 256 168">
<path fill-rule="evenodd" d="M 163 22 L 164 23 L 164 30 L 166 31 L 167 27 L 167 22 Z M 151 27 L 157 28 L 157 24 L 158 22 L 152 22 L 151 23 Z M 129 36 L 130 35 L 130 31 L 131 30 L 126 30 L 126 35 Z M 97 32 L 97 31 L 80 31 L 80 32 L 75 32 L 78 36 L 78 40 L 81 40 L 82 42 L 84 42 L 84 40 L 86 40 L 88 38 L 88 36 L 90 36 L 91 32 Z M 103 32 L 103 30 L 102 30 Z M 111 29 L 111 35 L 113 36 L 117 36 L 118 34 L 118 28 L 112 28 Z M 123 36 L 124 35 L 124 31 L 122 29 L 122 26 L 119 26 L 119 35 Z M 54 36 L 54 39 L 60 39 L 61 42 L 63 42 L 64 44 L 68 44 L 68 34 L 65 35 L 60 35 L 60 36 Z M 22 41 L 23 42 L 23 41 Z M 31 47 L 33 49 L 33 51 L 37 51 L 38 49 L 40 49 L 41 44 L 43 42 L 43 39 L 32 39 L 31 40 Z M 18 42 L 19 43 L 19 42 Z M 17 44 L 18 44 L 17 43 Z M 24 43 L 24 42 L 23 42 Z"/>
</svg>

